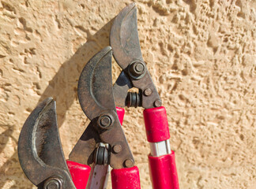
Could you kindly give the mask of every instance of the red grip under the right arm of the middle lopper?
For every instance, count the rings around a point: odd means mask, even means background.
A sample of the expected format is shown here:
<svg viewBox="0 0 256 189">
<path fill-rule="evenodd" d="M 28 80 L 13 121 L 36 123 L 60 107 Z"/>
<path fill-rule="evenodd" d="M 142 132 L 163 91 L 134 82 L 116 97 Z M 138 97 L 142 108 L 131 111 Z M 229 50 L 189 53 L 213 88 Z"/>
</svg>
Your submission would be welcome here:
<svg viewBox="0 0 256 189">
<path fill-rule="evenodd" d="M 139 169 L 132 168 L 112 169 L 112 189 L 141 189 Z"/>
</svg>

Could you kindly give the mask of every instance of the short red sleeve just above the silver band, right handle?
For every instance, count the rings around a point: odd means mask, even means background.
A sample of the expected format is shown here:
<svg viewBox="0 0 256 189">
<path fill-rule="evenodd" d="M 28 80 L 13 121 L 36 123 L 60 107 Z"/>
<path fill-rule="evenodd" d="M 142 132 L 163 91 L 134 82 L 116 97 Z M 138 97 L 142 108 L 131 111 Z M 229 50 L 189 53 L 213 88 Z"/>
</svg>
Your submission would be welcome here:
<svg viewBox="0 0 256 189">
<path fill-rule="evenodd" d="M 143 116 L 149 143 L 156 143 L 170 139 L 168 118 L 164 106 L 145 109 Z"/>
</svg>

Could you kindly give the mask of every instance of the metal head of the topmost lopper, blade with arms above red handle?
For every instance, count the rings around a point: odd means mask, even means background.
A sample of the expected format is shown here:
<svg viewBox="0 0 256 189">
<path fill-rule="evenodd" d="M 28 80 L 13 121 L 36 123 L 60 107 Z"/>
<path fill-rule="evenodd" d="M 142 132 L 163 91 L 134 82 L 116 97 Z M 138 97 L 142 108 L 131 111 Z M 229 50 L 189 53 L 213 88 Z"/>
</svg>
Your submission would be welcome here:
<svg viewBox="0 0 256 189">
<path fill-rule="evenodd" d="M 161 103 L 154 103 L 161 102 L 160 96 L 156 91 L 149 70 L 145 66 L 145 62 L 142 58 L 137 33 L 137 7 L 135 3 L 126 6 L 119 15 L 115 17 L 111 27 L 110 44 L 115 61 L 117 61 L 122 70 L 126 72 L 127 76 L 129 76 L 133 87 L 137 87 L 140 93 L 147 88 L 152 91 L 150 95 L 140 95 L 141 106 L 145 109 L 149 109 L 161 105 Z M 136 65 L 139 65 L 139 68 L 136 68 Z M 127 95 L 127 91 L 125 93 L 127 87 L 126 83 L 124 83 L 125 80 L 118 81 L 121 81 L 121 83 L 119 82 L 117 85 L 119 87 L 124 86 L 124 89 L 119 92 L 115 90 L 115 101 L 123 105 L 126 103 L 123 102 L 126 100 L 123 96 Z"/>
</svg>

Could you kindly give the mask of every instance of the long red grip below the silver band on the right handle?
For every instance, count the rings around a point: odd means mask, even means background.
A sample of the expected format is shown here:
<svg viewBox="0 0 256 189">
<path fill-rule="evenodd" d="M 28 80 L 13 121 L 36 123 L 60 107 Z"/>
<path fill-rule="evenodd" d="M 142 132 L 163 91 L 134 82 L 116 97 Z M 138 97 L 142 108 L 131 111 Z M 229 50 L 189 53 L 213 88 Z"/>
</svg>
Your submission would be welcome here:
<svg viewBox="0 0 256 189">
<path fill-rule="evenodd" d="M 179 189 L 174 151 L 160 157 L 149 155 L 149 172 L 154 189 Z"/>
</svg>

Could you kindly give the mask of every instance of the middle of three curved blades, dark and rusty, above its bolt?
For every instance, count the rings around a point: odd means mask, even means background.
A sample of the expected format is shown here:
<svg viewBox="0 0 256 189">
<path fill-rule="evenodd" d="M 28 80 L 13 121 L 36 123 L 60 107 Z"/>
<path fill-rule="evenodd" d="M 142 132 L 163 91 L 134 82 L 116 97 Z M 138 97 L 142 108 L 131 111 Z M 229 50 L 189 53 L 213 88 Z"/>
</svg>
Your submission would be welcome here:
<svg viewBox="0 0 256 189">
<path fill-rule="evenodd" d="M 104 110 L 115 109 L 111 76 L 111 47 L 100 50 L 81 72 L 78 98 L 85 115 L 92 120 Z"/>
</svg>

